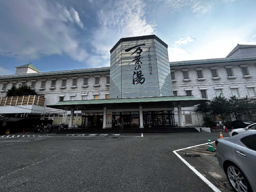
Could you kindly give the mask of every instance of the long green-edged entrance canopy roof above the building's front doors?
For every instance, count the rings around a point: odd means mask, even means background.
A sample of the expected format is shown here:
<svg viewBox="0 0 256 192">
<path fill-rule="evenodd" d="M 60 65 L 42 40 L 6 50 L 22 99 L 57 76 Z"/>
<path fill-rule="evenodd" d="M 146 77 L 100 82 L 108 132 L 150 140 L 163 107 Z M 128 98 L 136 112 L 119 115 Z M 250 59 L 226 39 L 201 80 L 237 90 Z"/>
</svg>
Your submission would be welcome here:
<svg viewBox="0 0 256 192">
<path fill-rule="evenodd" d="M 74 107 L 77 110 L 99 110 L 103 107 L 108 109 L 123 109 L 123 108 L 169 108 L 194 106 L 208 100 L 195 98 L 194 96 L 168 96 L 168 97 L 140 97 L 140 98 L 124 98 L 124 99 L 101 99 L 101 100 L 73 100 L 59 101 L 53 105 L 46 107 L 71 110 Z"/>
</svg>

